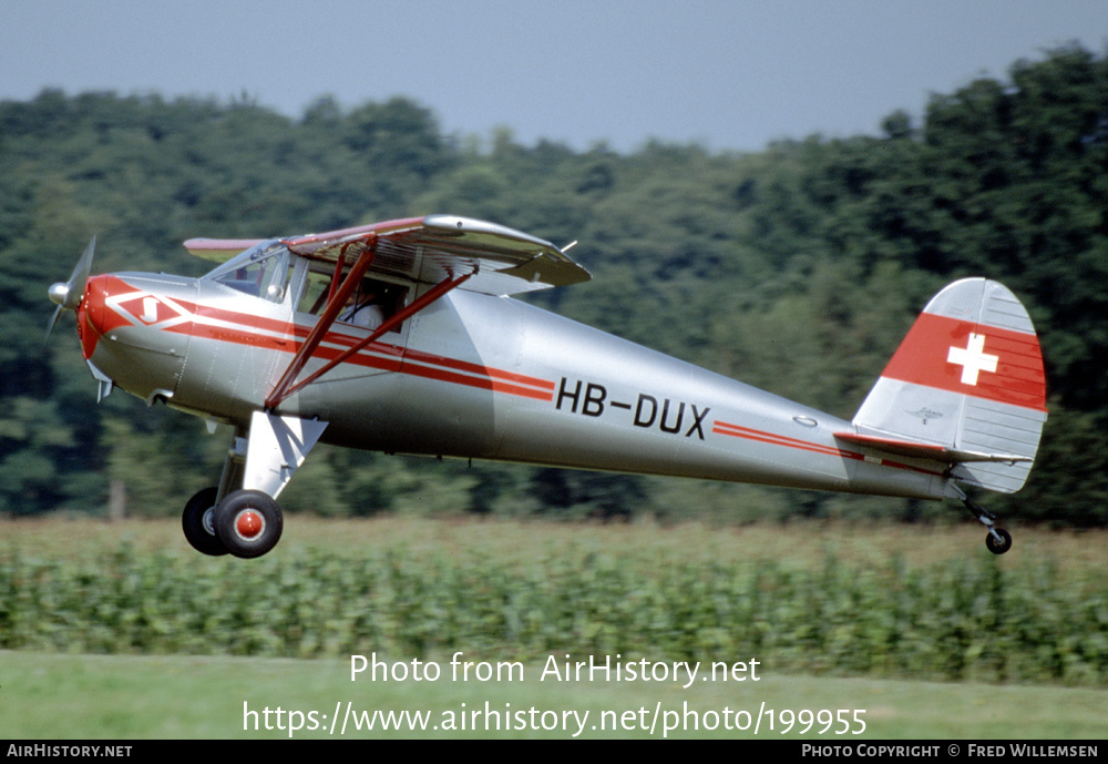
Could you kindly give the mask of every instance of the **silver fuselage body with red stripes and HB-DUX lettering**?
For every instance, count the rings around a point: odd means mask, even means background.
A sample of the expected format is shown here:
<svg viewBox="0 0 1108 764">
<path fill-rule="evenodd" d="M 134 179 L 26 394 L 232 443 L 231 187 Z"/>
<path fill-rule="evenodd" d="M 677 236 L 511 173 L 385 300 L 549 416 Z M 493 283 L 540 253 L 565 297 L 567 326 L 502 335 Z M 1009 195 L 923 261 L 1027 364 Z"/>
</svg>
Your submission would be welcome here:
<svg viewBox="0 0 1108 764">
<path fill-rule="evenodd" d="M 295 272 L 295 269 L 294 269 Z M 414 291 L 413 285 L 413 291 Z M 288 294 L 120 273 L 79 309 L 90 363 L 147 401 L 245 428 L 318 320 Z M 368 329 L 336 322 L 309 374 Z M 532 305 L 454 291 L 279 406 L 355 448 L 942 498 L 931 461 L 865 456 L 851 424 Z"/>
</svg>

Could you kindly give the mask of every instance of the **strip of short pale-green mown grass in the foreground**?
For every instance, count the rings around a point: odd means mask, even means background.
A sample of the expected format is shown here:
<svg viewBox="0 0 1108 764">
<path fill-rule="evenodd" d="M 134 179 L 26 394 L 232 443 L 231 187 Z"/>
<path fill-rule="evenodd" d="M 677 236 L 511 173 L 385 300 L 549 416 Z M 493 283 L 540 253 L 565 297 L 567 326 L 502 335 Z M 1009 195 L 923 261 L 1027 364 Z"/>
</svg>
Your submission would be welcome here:
<svg viewBox="0 0 1108 764">
<path fill-rule="evenodd" d="M 444 673 L 449 656 L 439 663 Z M 410 663 L 410 661 L 409 661 Z M 269 717 L 273 730 L 266 731 L 264 711 L 278 707 L 305 714 L 305 729 L 291 733 L 295 738 L 321 737 L 551 737 L 570 738 L 578 730 L 571 717 L 562 727 L 562 712 L 588 712 L 579 737 L 755 737 L 752 727 L 727 730 L 719 716 L 729 710 L 732 726 L 749 724 L 733 715 L 748 711 L 756 715 L 766 709 L 864 710 L 860 735 L 815 734 L 815 724 L 807 735 L 801 725 L 781 734 L 782 722 L 768 729 L 763 715 L 758 738 L 803 737 L 821 742 L 855 742 L 888 738 L 1008 738 L 1074 740 L 1104 738 L 1108 734 L 1108 699 L 1104 690 L 996 686 L 986 684 L 942 684 L 934 682 L 875 681 L 781 676 L 767 672 L 757 683 L 706 682 L 685 690 L 677 682 L 540 682 L 542 665 L 525 666 L 524 681 L 437 682 L 350 681 L 347 661 L 295 661 L 202 656 L 150 655 L 55 655 L 42 653 L 0 653 L 0 737 L 9 738 L 225 738 L 288 737 L 289 717 Z M 355 731 L 352 723 L 345 735 L 326 730 L 310 731 L 309 711 L 327 725 L 336 704 L 350 702 L 356 711 L 430 711 L 431 726 L 442 725 L 450 714 L 482 712 L 478 730 L 428 730 L 413 732 Z M 527 727 L 543 724 L 552 730 L 484 729 L 483 710 L 488 702 L 494 711 L 525 711 Z M 244 730 L 244 703 L 253 717 Z M 687 706 L 685 705 L 687 703 Z M 507 704 L 511 704 L 510 706 Z M 649 732 L 649 723 L 659 706 L 663 715 Z M 531 707 L 538 712 L 532 724 Z M 691 726 L 691 709 L 699 723 L 712 730 L 675 730 L 665 725 L 683 719 Z M 646 710 L 645 715 L 640 712 Z M 555 720 L 550 713 L 557 712 Z M 632 729 L 602 730 L 604 712 L 617 712 L 616 722 Z M 624 717 L 625 712 L 633 712 Z M 715 712 L 715 714 L 710 713 Z M 545 713 L 545 717 L 543 716 Z M 677 714 L 675 716 L 675 713 Z M 609 715 L 607 717 L 612 720 Z M 860 725 L 853 722 L 853 729 Z M 459 726 L 459 716 L 454 716 Z M 501 717 L 501 726 L 517 724 L 517 719 Z M 254 725 L 259 729 L 255 731 Z M 280 724 L 285 730 L 276 729 Z M 472 717 L 468 727 L 474 726 Z M 642 729 L 642 727 L 647 729 Z"/>
</svg>

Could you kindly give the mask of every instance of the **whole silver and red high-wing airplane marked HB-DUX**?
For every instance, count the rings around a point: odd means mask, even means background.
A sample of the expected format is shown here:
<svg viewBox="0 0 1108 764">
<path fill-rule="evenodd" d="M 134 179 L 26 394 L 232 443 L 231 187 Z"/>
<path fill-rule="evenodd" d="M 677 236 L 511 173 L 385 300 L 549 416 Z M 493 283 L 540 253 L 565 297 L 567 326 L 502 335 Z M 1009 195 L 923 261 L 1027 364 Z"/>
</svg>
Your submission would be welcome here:
<svg viewBox="0 0 1108 764">
<path fill-rule="evenodd" d="M 182 519 L 207 554 L 265 554 L 284 487 L 316 442 L 386 452 L 960 499 L 1012 546 L 963 485 L 1009 493 L 1046 421 L 1027 312 L 984 278 L 924 308 L 852 421 L 509 298 L 585 282 L 550 242 L 431 215 L 265 241 L 185 242 L 222 264 L 201 278 L 66 283 L 103 397 L 234 427 L 219 485 Z M 568 247 L 566 247 L 568 248 Z"/>
</svg>

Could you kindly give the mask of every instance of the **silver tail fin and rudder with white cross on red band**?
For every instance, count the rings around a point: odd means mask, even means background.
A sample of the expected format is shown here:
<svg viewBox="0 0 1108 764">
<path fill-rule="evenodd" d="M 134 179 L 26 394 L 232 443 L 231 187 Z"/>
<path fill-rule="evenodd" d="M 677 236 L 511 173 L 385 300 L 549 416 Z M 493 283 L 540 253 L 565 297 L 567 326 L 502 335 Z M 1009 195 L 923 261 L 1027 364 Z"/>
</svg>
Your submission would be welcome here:
<svg viewBox="0 0 1108 764">
<path fill-rule="evenodd" d="M 1010 493 L 1027 480 L 1046 416 L 1027 310 L 1003 285 L 967 278 L 923 309 L 853 424 L 860 436 L 960 454 L 952 477 Z"/>
</svg>

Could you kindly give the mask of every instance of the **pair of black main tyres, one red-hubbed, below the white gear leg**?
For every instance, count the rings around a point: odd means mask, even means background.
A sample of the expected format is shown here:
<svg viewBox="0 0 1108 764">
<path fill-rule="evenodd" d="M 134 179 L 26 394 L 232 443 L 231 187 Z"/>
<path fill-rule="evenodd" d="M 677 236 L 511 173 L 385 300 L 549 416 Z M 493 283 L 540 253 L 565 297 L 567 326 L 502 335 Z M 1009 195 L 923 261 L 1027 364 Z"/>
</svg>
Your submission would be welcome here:
<svg viewBox="0 0 1108 764">
<path fill-rule="evenodd" d="M 182 530 L 193 549 L 218 557 L 261 557 L 280 541 L 284 519 L 277 501 L 257 490 L 232 491 L 216 503 L 216 487 L 205 488 L 185 505 Z"/>
</svg>

